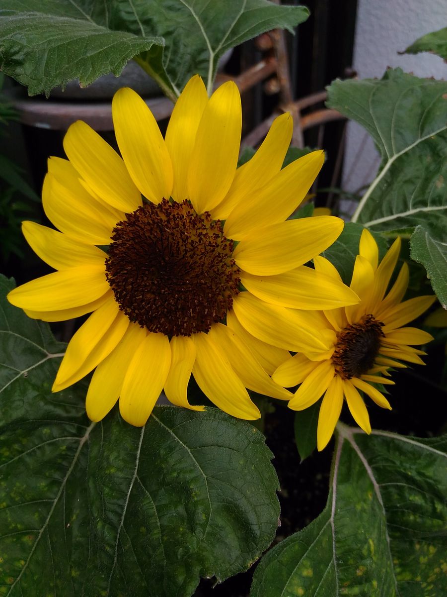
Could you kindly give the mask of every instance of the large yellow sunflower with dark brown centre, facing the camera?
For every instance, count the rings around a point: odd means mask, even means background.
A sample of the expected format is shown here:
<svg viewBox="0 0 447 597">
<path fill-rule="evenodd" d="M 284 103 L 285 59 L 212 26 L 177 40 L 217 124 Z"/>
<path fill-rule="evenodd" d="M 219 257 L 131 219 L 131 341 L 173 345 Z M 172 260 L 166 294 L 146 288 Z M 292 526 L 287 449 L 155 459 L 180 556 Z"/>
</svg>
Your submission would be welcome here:
<svg viewBox="0 0 447 597">
<path fill-rule="evenodd" d="M 281 170 L 292 134 L 284 114 L 237 168 L 241 102 L 233 82 L 209 98 L 192 78 L 165 139 L 128 88 L 114 96 L 112 113 L 120 155 L 79 121 L 64 137 L 68 160 L 49 159 L 42 200 L 60 232 L 30 221 L 23 232 L 57 271 L 8 299 L 44 321 L 92 313 L 68 344 L 52 390 L 95 370 L 86 397 L 93 421 L 119 398 L 123 418 L 141 426 L 163 389 L 173 404 L 202 410 L 188 403 L 191 373 L 226 413 L 259 418 L 247 388 L 289 399 L 270 377 L 286 349 L 325 348 L 318 331 L 302 330 L 293 307 L 358 301 L 340 281 L 303 266 L 334 242 L 342 220 L 285 221 L 323 153 Z M 259 314 L 262 333 L 244 321 Z M 271 346 L 268 329 L 281 326 L 300 340 Z"/>
</svg>

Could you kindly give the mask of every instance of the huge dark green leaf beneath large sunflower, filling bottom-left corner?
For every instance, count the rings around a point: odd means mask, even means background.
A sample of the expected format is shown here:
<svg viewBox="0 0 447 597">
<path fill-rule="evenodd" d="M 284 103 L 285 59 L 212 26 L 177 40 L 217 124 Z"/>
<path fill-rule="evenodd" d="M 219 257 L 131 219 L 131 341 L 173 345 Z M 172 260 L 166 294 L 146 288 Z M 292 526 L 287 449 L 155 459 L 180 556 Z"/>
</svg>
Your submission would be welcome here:
<svg viewBox="0 0 447 597">
<path fill-rule="evenodd" d="M 0 340 L 2 595 L 188 597 L 268 547 L 278 479 L 254 427 L 176 407 L 91 423 L 84 384 L 51 393 L 48 325 L 2 298 Z"/>
</svg>

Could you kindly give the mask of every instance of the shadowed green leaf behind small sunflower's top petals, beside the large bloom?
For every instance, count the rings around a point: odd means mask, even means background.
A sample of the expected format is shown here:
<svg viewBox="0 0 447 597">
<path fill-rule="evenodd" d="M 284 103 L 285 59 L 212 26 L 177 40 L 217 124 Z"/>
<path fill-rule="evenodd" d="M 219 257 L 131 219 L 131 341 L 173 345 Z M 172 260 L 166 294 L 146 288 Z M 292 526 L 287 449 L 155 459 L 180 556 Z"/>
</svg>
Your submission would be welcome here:
<svg viewBox="0 0 447 597">
<path fill-rule="evenodd" d="M 328 259 L 336 266 L 344 284 L 350 284 L 352 271 L 354 269 L 355 258 L 359 253 L 360 237 L 364 227 L 360 224 L 348 222 L 344 224 L 343 232 L 337 238 L 336 242 L 322 253 L 322 256 Z M 378 245 L 379 258 L 382 259 L 387 250 L 387 244 L 381 234 L 371 231 L 375 242 Z"/>
</svg>

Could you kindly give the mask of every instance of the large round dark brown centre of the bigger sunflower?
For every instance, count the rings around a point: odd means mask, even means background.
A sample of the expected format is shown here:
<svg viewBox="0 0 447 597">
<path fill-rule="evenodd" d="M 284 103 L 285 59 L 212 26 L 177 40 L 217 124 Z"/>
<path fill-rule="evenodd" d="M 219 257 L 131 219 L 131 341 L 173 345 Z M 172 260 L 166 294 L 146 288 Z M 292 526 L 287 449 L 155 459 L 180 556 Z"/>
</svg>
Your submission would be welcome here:
<svg viewBox="0 0 447 597">
<path fill-rule="evenodd" d="M 142 205 L 117 223 L 111 241 L 107 281 L 120 309 L 151 332 L 207 332 L 239 293 L 233 241 L 188 201 Z"/>
</svg>

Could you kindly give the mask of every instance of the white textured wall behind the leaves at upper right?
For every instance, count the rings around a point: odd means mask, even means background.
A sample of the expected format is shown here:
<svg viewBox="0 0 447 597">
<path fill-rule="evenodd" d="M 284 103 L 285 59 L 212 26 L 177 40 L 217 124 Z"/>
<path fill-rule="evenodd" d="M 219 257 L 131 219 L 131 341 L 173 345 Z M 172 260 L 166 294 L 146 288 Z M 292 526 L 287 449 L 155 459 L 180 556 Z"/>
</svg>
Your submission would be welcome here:
<svg viewBox="0 0 447 597">
<path fill-rule="evenodd" d="M 447 26 L 446 0 L 359 0 L 353 68 L 359 79 L 381 78 L 388 66 L 419 77 L 447 78 L 447 64 L 427 52 L 403 54 L 417 38 Z M 355 122 L 347 128 L 343 188 L 355 191 L 374 179 L 380 162 L 373 141 Z"/>
</svg>

